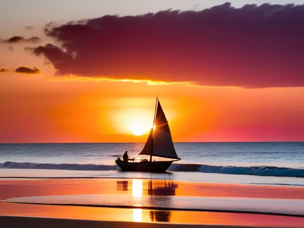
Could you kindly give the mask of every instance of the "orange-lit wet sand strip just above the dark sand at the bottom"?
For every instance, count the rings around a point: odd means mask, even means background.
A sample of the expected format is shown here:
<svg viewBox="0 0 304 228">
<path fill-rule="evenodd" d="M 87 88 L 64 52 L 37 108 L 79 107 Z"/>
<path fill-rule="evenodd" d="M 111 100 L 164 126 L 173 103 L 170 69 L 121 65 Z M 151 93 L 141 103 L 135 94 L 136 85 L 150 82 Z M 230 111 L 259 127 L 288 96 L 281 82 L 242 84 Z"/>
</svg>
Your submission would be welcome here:
<svg viewBox="0 0 304 228">
<path fill-rule="evenodd" d="M 91 227 L 95 221 L 99 227 L 103 224 L 111 224 L 116 227 L 117 224 L 130 225 L 136 227 L 136 224 L 142 224 L 143 227 L 159 227 L 162 224 L 166 227 L 304 227 L 304 218 L 282 216 L 282 215 L 264 215 L 252 213 L 237 213 L 237 212 L 194 212 L 194 211 L 157 211 L 145 209 L 118 209 L 118 208 L 85 208 L 81 206 L 48 206 L 48 205 L 18 205 L 5 203 L 1 207 L 6 207 L 6 213 L 0 216 L 0 222 L 4 224 L 14 225 L 13 227 L 25 227 L 23 224 L 30 224 L 29 227 L 47 227 L 44 224 L 48 223 L 49 219 L 57 219 L 56 227 L 67 227 L 67 220 L 73 220 L 86 224 Z M 138 213 L 140 212 L 140 213 Z M 171 216 L 167 219 L 159 217 L 152 219 L 151 213 L 170 213 Z M 5 223 L 6 218 L 15 219 L 18 217 L 21 224 Z M 32 218 L 31 222 L 28 222 Z M 6 219 L 6 220 L 3 220 Z M 109 223 L 111 222 L 111 223 Z M 50 223 L 48 223 L 50 224 Z M 54 228 L 54 226 L 50 226 Z M 78 227 L 78 226 L 68 226 Z M 108 227 L 108 226 L 105 226 Z M 127 227 L 127 226 L 126 226 Z M 139 227 L 141 227 L 139 225 Z"/>
</svg>

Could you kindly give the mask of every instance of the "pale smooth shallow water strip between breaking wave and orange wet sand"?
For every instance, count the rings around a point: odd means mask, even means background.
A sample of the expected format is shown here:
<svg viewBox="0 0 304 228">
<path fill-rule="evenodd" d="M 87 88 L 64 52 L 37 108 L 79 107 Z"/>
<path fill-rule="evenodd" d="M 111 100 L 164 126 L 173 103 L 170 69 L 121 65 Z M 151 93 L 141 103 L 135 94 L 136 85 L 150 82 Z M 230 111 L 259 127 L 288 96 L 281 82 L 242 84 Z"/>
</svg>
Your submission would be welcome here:
<svg viewBox="0 0 304 228">
<path fill-rule="evenodd" d="M 163 179 L 194 182 L 213 183 L 235 183 L 235 184 L 256 184 L 256 185 L 287 185 L 304 187 L 304 178 L 271 177 L 239 174 L 218 174 L 201 172 L 177 172 L 167 171 L 166 173 L 145 173 L 145 172 L 123 172 L 111 171 L 79 171 L 79 170 L 45 170 L 40 169 L 0 169 L 1 177 L 57 177 L 57 178 L 143 178 Z"/>
</svg>

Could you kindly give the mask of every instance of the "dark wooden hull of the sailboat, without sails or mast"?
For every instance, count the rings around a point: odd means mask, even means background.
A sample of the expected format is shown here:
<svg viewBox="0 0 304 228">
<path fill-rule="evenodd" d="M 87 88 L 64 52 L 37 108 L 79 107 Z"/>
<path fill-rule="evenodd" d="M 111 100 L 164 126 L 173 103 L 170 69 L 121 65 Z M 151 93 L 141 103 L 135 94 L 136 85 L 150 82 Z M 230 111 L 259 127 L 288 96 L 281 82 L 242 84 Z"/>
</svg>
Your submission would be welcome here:
<svg viewBox="0 0 304 228">
<path fill-rule="evenodd" d="M 133 172 L 156 172 L 164 173 L 173 161 L 153 161 L 149 163 L 140 162 L 125 162 L 116 160 L 116 164 L 121 168 L 122 171 L 133 171 Z"/>
</svg>

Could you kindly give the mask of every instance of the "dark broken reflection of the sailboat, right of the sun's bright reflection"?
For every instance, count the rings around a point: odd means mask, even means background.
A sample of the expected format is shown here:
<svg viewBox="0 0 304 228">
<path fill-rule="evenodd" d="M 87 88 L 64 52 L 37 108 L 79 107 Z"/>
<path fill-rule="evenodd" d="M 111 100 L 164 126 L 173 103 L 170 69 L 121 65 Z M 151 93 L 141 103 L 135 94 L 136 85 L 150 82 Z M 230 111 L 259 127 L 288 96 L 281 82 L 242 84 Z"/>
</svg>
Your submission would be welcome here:
<svg viewBox="0 0 304 228">
<path fill-rule="evenodd" d="M 162 183 L 161 181 L 152 180 L 148 182 L 148 195 L 150 197 L 150 204 L 154 205 L 154 202 L 157 198 L 153 197 L 154 195 L 162 195 L 162 196 L 174 196 L 175 189 L 178 187 L 177 184 L 174 184 L 172 181 L 169 183 Z M 171 197 L 168 197 L 167 200 L 163 201 L 164 207 L 172 207 L 173 202 Z M 170 211 L 150 211 L 150 219 L 152 222 L 169 222 L 170 221 L 171 212 Z"/>
</svg>

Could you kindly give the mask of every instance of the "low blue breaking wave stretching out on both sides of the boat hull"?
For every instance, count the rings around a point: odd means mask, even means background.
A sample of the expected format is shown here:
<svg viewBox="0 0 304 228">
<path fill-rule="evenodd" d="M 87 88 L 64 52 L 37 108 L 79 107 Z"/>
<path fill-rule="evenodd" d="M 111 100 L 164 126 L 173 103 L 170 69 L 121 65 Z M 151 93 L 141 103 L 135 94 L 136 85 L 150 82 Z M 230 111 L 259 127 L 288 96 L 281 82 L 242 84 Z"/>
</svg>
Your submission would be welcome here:
<svg viewBox="0 0 304 228">
<path fill-rule="evenodd" d="M 32 163 L 32 162 L 12 162 L 0 163 L 0 168 L 8 169 L 58 169 L 58 170 L 81 170 L 81 171 L 106 171 L 112 165 L 97 164 L 51 164 L 51 163 Z M 119 170 L 116 166 L 112 170 Z M 212 166 L 201 164 L 172 164 L 168 171 L 181 172 L 202 172 L 220 174 L 242 174 L 257 176 L 277 176 L 277 177 L 304 177 L 304 169 L 285 168 L 276 166 Z"/>
</svg>

